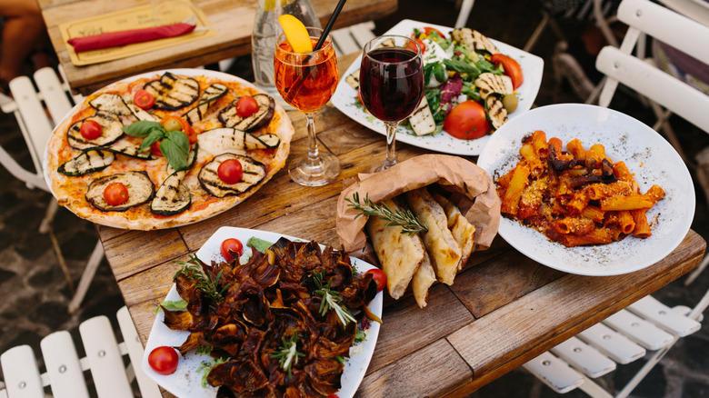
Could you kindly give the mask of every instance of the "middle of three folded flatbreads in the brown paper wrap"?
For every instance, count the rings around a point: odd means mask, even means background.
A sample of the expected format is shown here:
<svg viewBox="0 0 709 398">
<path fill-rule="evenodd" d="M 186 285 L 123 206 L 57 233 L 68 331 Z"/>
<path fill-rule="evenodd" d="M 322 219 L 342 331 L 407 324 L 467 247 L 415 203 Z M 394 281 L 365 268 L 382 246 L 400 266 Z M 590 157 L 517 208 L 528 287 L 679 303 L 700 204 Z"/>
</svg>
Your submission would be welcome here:
<svg viewBox="0 0 709 398">
<path fill-rule="evenodd" d="M 448 218 L 443 207 L 425 188 L 409 191 L 405 196 L 411 210 L 428 228 L 428 232 L 421 233 L 421 237 L 426 251 L 431 256 L 438 280 L 444 284 L 453 284 L 463 252 L 448 229 Z"/>
</svg>

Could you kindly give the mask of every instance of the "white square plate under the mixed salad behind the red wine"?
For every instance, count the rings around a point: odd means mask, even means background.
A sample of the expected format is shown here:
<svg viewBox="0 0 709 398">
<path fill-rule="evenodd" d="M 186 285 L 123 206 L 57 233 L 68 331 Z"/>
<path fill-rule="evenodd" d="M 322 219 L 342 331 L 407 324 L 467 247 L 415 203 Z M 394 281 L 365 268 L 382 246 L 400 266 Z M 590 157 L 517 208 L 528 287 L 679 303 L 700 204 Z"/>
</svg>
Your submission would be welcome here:
<svg viewBox="0 0 709 398">
<path fill-rule="evenodd" d="M 420 29 L 424 26 L 434 27 L 446 36 L 451 30 L 453 30 L 452 27 L 426 24 L 424 22 L 413 21 L 411 19 L 404 19 L 400 23 L 394 25 L 393 28 L 386 31 L 385 35 L 409 36 L 414 33 L 414 27 Z M 512 120 L 515 117 L 524 114 L 524 112 L 532 107 L 536 94 L 539 92 L 539 85 L 542 84 L 544 60 L 536 55 L 532 55 L 515 48 L 512 45 L 505 45 L 504 43 L 500 43 L 496 40 L 492 41 L 494 42 L 494 45 L 497 45 L 497 48 L 500 49 L 500 53 L 511 56 L 519 63 L 520 66 L 522 66 L 524 83 L 517 90 L 519 93 L 519 95 L 517 95 L 519 98 L 517 110 L 508 116 L 509 119 Z M 343 76 L 351 75 L 354 71 L 359 69 L 361 62 L 362 55 L 358 56 L 357 59 L 354 60 L 352 65 L 347 68 L 347 71 Z M 342 111 L 343 114 L 350 116 L 355 122 L 363 124 L 379 134 L 386 134 L 384 123 L 376 119 L 372 114 L 366 113 L 364 111 L 364 107 L 358 105 L 357 91 L 345 82 L 345 78 L 340 79 L 340 83 L 337 85 L 337 90 L 335 91 L 335 95 L 333 95 L 331 101 L 337 109 Z M 396 130 L 396 141 L 412 144 L 414 146 L 430 149 L 432 151 L 443 152 L 444 154 L 480 154 L 483 150 L 484 144 L 487 143 L 489 139 L 490 135 L 470 141 L 459 140 L 444 132 L 434 135 L 417 136 L 414 134 L 414 131 L 408 127 L 408 125 L 399 126 Z"/>
</svg>

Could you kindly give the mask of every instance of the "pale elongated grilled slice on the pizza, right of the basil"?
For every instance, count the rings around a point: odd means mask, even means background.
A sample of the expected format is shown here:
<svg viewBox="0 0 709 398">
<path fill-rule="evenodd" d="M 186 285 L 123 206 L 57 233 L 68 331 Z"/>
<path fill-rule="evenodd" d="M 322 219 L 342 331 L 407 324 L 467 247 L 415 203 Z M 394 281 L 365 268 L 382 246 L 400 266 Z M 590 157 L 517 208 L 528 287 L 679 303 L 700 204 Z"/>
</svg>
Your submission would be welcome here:
<svg viewBox="0 0 709 398">
<path fill-rule="evenodd" d="M 210 154 L 225 152 L 243 152 L 254 149 L 272 149 L 281 143 L 275 134 L 255 136 L 235 128 L 215 128 L 197 136 L 197 142 L 202 150 Z"/>
</svg>

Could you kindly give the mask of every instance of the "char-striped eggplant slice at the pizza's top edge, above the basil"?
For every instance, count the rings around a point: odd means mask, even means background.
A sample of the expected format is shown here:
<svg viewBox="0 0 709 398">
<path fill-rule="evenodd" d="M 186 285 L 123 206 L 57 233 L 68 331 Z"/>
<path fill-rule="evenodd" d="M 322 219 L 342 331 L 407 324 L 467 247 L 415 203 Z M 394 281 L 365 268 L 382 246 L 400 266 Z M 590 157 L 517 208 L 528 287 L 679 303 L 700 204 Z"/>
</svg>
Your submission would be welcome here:
<svg viewBox="0 0 709 398">
<path fill-rule="evenodd" d="M 192 104 L 199 98 L 199 83 L 186 76 L 165 72 L 160 80 L 145 84 L 145 90 L 155 96 L 155 109 L 175 111 Z"/>
</svg>

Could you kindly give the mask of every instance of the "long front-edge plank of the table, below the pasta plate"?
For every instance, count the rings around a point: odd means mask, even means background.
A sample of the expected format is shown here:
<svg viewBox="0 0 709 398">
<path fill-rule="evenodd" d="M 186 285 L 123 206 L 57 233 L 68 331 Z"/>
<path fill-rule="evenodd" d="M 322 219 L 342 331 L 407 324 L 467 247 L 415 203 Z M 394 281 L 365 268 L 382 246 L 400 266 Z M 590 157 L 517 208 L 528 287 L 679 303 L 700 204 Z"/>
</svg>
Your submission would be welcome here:
<svg viewBox="0 0 709 398">
<path fill-rule="evenodd" d="M 567 274 L 447 337 L 473 369 L 469 391 L 526 363 L 557 343 L 686 274 L 706 244 L 690 231 L 662 261 L 632 274 Z"/>
</svg>

